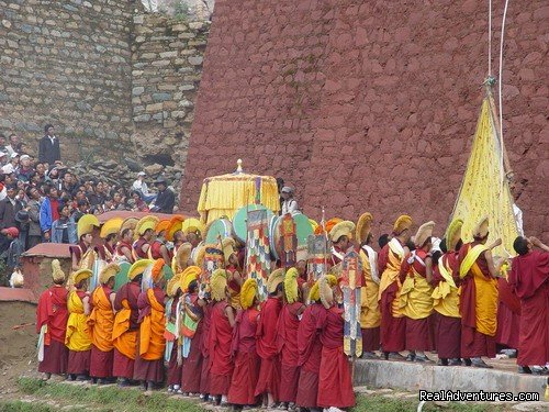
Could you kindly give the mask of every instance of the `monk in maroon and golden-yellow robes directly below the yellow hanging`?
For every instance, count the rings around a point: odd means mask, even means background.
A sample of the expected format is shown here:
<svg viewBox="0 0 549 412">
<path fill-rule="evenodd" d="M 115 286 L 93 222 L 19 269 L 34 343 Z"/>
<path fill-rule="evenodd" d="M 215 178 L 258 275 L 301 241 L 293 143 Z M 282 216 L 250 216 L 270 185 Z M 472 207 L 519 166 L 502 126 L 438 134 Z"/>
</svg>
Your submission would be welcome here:
<svg viewBox="0 0 549 412">
<path fill-rule="evenodd" d="M 489 221 L 483 218 L 473 229 L 473 242 L 461 246 L 458 256 L 460 296 L 461 356 L 471 358 L 472 366 L 492 368 L 481 356 L 495 357 L 497 330 L 497 280 L 501 263 L 494 265 L 491 249 L 501 245 L 497 240 L 486 246 Z"/>
</svg>

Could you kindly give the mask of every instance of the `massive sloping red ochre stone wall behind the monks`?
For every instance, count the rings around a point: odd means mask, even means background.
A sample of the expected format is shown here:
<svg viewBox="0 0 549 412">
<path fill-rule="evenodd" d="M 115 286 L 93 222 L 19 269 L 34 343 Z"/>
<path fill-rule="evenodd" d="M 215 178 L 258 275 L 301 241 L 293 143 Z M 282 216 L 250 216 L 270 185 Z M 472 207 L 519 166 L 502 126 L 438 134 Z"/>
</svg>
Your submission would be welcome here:
<svg viewBox="0 0 549 412">
<path fill-rule="evenodd" d="M 493 71 L 503 0 L 494 3 Z M 504 138 L 525 229 L 549 242 L 549 5 L 511 1 Z M 488 71 L 488 1 L 217 0 L 182 209 L 202 179 L 282 177 L 303 212 L 389 232 L 410 213 L 448 222 Z M 497 57 L 497 58 L 496 58 Z"/>
</svg>

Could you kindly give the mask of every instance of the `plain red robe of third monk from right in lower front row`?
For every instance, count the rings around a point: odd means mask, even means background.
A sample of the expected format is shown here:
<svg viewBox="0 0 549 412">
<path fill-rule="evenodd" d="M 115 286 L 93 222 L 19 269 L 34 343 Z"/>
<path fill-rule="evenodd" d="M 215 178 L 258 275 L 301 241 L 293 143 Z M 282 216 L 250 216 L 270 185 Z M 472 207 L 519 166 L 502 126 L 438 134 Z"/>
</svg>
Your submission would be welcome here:
<svg viewBox="0 0 549 412">
<path fill-rule="evenodd" d="M 278 319 L 277 345 L 280 356 L 280 402 L 295 402 L 298 382 L 300 380 L 300 353 L 298 348 L 298 313 L 303 307 L 301 302 L 287 303 Z"/>
</svg>

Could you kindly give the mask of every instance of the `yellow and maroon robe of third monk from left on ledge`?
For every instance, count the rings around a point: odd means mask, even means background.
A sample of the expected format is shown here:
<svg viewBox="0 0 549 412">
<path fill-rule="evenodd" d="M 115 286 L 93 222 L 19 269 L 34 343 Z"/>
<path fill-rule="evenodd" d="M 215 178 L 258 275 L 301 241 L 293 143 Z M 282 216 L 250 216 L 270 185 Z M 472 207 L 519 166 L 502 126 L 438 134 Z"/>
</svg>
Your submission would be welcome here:
<svg viewBox="0 0 549 412">
<path fill-rule="evenodd" d="M 415 254 L 424 263 L 428 257 L 425 250 L 417 249 Z M 407 350 L 433 350 L 435 348 L 433 322 L 433 288 L 426 280 L 427 269 L 419 261 L 414 259 L 412 264 L 404 258 L 401 265 L 401 308 L 406 319 L 405 336 Z M 406 283 L 405 283 L 406 282 Z M 406 292 L 407 285 L 414 285 L 412 290 Z M 405 304 L 407 302 L 407 304 Z"/>
</svg>

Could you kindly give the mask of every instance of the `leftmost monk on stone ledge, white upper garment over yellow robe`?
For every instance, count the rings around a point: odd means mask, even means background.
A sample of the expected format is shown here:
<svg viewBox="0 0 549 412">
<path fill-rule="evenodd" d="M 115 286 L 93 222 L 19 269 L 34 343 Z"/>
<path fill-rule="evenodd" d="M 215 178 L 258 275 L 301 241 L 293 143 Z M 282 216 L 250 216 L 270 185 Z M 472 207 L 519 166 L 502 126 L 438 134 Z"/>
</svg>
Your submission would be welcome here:
<svg viewBox="0 0 549 412">
<path fill-rule="evenodd" d="M 373 216 L 363 213 L 357 222 L 356 236 L 360 243 L 363 286 L 360 288 L 360 329 L 362 330 L 362 358 L 376 359 L 380 348 L 381 312 L 379 310 L 378 253 L 370 246 L 372 242 Z"/>
</svg>

